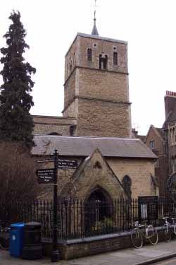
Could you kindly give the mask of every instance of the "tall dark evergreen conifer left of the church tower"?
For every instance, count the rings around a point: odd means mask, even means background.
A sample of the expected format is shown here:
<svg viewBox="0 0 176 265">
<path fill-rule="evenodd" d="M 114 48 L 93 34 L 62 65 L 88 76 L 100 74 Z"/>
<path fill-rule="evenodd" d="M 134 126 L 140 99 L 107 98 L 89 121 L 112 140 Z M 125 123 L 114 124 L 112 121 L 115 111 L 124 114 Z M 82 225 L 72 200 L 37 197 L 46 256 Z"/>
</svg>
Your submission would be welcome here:
<svg viewBox="0 0 176 265">
<path fill-rule="evenodd" d="M 31 74 L 34 69 L 23 58 L 26 31 L 20 22 L 20 13 L 13 11 L 12 20 L 6 38 L 6 47 L 0 49 L 0 72 L 4 83 L 0 87 L 0 141 L 20 142 L 27 148 L 34 146 L 32 129 L 33 121 L 30 108 L 34 105 L 30 92 L 34 86 Z"/>
</svg>

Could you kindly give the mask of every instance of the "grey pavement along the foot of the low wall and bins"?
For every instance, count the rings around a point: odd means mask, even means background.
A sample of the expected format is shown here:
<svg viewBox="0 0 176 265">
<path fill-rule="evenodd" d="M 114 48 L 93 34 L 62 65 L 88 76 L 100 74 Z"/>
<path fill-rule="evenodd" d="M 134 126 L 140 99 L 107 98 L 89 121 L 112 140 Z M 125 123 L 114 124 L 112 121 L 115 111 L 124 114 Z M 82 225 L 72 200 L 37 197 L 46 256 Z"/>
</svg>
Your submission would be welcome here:
<svg viewBox="0 0 176 265">
<path fill-rule="evenodd" d="M 146 245 L 141 249 L 128 248 L 113 252 L 96 254 L 80 259 L 58 261 L 58 265 L 147 265 L 176 257 L 176 240 L 159 242 L 157 245 Z M 51 264 L 49 258 L 27 261 L 11 257 L 9 252 L 0 249 L 0 265 L 40 265 Z"/>
</svg>

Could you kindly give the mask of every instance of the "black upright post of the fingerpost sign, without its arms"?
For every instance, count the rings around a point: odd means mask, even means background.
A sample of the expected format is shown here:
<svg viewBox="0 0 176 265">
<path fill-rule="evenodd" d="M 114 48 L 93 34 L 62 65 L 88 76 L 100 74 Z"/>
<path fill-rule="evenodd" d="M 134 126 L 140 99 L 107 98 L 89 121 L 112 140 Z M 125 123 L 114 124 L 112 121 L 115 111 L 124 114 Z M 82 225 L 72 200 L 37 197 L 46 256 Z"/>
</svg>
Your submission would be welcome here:
<svg viewBox="0 0 176 265">
<path fill-rule="evenodd" d="M 53 220 L 53 242 L 51 249 L 51 262 L 56 262 L 60 259 L 58 252 L 58 215 L 57 215 L 57 199 L 58 199 L 58 151 L 54 151 L 54 220 Z"/>
</svg>

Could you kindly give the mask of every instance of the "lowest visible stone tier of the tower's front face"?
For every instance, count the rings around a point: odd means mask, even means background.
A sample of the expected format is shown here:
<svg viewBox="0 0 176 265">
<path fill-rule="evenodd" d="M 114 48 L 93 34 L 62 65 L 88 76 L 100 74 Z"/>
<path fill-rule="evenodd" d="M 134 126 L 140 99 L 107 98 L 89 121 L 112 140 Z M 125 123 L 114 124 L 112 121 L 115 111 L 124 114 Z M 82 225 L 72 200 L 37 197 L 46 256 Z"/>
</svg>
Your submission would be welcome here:
<svg viewBox="0 0 176 265">
<path fill-rule="evenodd" d="M 78 113 L 78 136 L 130 136 L 130 108 L 127 104 L 79 99 Z"/>
</svg>

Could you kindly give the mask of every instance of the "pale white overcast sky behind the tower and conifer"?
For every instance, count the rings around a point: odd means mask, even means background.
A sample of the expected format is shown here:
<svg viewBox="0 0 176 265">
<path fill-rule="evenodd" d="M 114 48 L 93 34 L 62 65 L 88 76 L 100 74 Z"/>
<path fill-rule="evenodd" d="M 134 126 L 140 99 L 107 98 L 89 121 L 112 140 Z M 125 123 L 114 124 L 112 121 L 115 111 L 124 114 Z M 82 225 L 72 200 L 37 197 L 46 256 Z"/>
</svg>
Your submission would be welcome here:
<svg viewBox="0 0 176 265">
<path fill-rule="evenodd" d="M 128 42 L 132 126 L 146 134 L 150 124 L 163 125 L 165 90 L 176 91 L 176 1 L 98 0 L 97 5 L 99 35 Z M 94 0 L 1 3 L 0 47 L 13 9 L 27 30 L 25 58 L 37 69 L 32 114 L 61 116 L 65 53 L 77 32 L 92 32 L 93 6 Z"/>
</svg>

